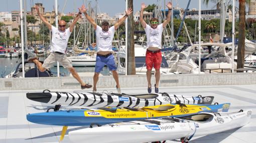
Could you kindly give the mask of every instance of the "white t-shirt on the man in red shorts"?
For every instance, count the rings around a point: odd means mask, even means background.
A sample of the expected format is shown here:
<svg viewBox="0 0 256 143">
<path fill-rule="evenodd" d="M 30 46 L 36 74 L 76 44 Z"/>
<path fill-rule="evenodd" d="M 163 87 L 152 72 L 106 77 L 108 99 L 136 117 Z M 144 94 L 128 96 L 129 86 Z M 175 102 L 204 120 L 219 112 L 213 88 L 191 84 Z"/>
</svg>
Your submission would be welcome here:
<svg viewBox="0 0 256 143">
<path fill-rule="evenodd" d="M 147 35 L 147 48 L 152 46 L 161 49 L 163 23 L 159 24 L 155 29 L 146 24 L 145 32 Z"/>
</svg>

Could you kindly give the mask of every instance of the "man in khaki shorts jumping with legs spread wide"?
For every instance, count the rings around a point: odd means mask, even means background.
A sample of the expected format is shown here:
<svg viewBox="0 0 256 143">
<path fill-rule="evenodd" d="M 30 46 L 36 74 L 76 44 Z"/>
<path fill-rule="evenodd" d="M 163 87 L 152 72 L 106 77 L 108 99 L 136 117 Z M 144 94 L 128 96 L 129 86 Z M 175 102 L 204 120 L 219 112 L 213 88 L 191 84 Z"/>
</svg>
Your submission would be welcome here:
<svg viewBox="0 0 256 143">
<path fill-rule="evenodd" d="M 77 22 L 77 20 L 80 18 L 82 12 L 81 10 L 85 6 L 82 5 L 79 9 L 78 14 L 76 15 L 74 21 L 70 24 L 70 26 L 66 29 L 66 22 L 64 20 L 59 20 L 58 22 L 58 28 L 51 25 L 47 19 L 40 13 L 38 6 L 36 6 L 36 10 L 38 12 L 38 15 L 40 19 L 46 24 L 46 26 L 52 30 L 52 44 L 51 44 L 51 53 L 50 55 L 44 60 L 44 63 L 42 64 L 38 57 L 33 57 L 28 60 L 28 62 L 35 62 L 37 64 L 38 69 L 43 72 L 46 69 L 52 67 L 56 61 L 59 61 L 59 63 L 65 67 L 68 68 L 68 70 L 72 73 L 73 77 L 81 84 L 81 88 L 90 88 L 92 85 L 86 84 L 78 73 L 76 72 L 75 68 L 72 66 L 71 61 L 67 58 L 65 51 L 68 44 L 68 38 L 71 34 L 71 32 L 74 29 L 74 26 Z"/>
</svg>

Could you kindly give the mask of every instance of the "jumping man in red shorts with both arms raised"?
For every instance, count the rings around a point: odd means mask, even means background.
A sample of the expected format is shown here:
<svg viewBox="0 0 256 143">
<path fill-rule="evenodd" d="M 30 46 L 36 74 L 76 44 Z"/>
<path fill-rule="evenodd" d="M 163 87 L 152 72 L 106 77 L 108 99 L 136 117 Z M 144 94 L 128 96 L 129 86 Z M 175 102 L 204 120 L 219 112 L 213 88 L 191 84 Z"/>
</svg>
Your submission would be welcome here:
<svg viewBox="0 0 256 143">
<path fill-rule="evenodd" d="M 147 52 L 146 52 L 146 64 L 147 64 L 147 80 L 148 80 L 148 92 L 151 93 L 151 71 L 154 65 L 156 70 L 155 78 L 155 92 L 159 92 L 159 80 L 160 80 L 160 67 L 162 63 L 162 53 L 161 53 L 161 44 L 162 44 L 162 32 L 163 28 L 169 23 L 171 20 L 171 10 L 172 10 L 172 2 L 167 3 L 167 7 L 169 9 L 167 19 L 164 20 L 163 23 L 159 24 L 159 20 L 157 18 L 152 18 L 150 20 L 150 25 L 148 25 L 144 18 L 143 12 L 147 6 L 145 3 L 141 5 L 141 13 L 140 13 L 140 21 L 142 26 L 145 29 L 147 36 Z"/>
</svg>

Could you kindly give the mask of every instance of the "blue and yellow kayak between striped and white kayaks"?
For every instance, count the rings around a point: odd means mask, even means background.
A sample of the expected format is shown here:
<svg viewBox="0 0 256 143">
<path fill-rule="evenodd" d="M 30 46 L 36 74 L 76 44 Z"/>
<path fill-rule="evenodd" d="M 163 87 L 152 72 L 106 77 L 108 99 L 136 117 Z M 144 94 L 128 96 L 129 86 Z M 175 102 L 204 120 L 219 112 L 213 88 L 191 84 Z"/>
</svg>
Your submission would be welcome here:
<svg viewBox="0 0 256 143">
<path fill-rule="evenodd" d="M 101 107 L 90 109 L 69 109 L 27 114 L 27 120 L 39 124 L 83 126 L 107 124 L 120 121 L 184 116 L 202 111 L 227 111 L 230 103 L 215 105 L 165 104 L 141 108 Z"/>
</svg>

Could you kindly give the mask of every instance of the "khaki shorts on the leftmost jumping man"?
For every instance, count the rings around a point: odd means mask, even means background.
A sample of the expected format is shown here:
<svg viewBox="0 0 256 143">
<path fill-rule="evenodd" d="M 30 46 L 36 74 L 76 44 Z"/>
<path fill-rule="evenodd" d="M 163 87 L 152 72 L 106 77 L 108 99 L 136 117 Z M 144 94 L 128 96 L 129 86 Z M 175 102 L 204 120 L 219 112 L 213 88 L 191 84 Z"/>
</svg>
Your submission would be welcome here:
<svg viewBox="0 0 256 143">
<path fill-rule="evenodd" d="M 51 52 L 50 55 L 44 60 L 43 67 L 46 69 L 51 68 L 57 61 L 65 67 L 70 68 L 72 66 L 72 62 L 67 58 L 66 54 L 59 54 L 55 52 Z"/>
</svg>

